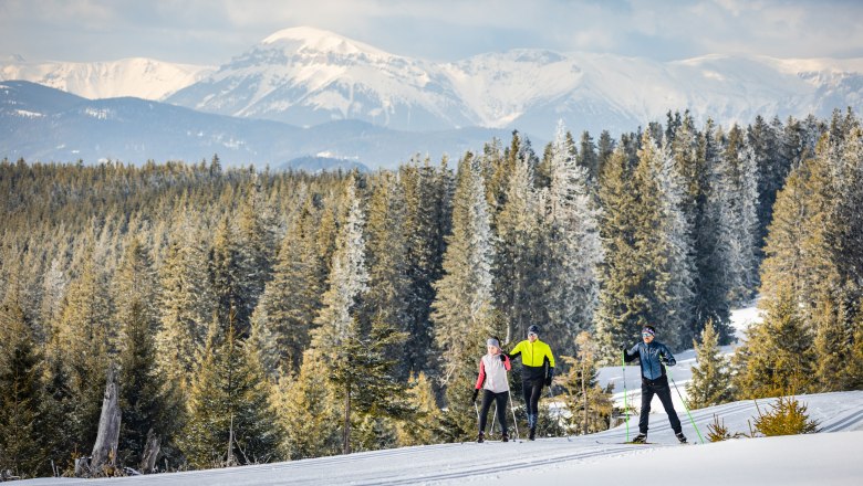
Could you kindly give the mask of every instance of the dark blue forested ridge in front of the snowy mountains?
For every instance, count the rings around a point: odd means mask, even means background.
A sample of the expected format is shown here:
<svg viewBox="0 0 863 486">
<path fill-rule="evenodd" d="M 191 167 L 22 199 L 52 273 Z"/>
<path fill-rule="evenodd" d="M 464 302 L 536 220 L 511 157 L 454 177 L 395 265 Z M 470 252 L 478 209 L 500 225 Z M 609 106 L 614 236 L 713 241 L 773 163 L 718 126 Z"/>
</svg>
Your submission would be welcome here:
<svg viewBox="0 0 863 486">
<path fill-rule="evenodd" d="M 0 82 L 0 158 L 27 161 L 209 160 L 308 171 L 396 167 L 415 155 L 439 160 L 507 133 L 462 128 L 397 131 L 336 120 L 308 128 L 196 112 L 134 97 L 87 99 L 25 81 Z"/>
</svg>

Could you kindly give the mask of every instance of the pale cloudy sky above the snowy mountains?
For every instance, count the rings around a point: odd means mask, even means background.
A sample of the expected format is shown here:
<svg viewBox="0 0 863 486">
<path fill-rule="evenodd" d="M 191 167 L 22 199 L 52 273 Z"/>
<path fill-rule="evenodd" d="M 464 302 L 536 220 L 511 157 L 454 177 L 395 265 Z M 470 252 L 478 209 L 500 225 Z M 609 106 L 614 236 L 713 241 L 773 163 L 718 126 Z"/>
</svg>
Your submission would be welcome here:
<svg viewBox="0 0 863 486">
<path fill-rule="evenodd" d="M 432 61 L 513 47 L 863 57 L 859 0 L 0 0 L 0 55 L 218 65 L 300 25 Z"/>
</svg>

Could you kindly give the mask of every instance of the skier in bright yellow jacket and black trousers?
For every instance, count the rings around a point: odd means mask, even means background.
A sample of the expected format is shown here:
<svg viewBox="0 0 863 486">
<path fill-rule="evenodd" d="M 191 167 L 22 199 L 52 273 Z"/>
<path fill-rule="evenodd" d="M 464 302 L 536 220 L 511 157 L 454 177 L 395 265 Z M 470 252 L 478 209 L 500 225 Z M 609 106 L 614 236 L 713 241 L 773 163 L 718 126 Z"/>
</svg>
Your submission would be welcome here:
<svg viewBox="0 0 863 486">
<path fill-rule="evenodd" d="M 519 342 L 509 352 L 509 358 L 521 357 L 521 388 L 524 393 L 524 406 L 528 413 L 528 427 L 533 441 L 537 437 L 537 418 L 542 385 L 551 387 L 554 376 L 554 356 L 549 345 L 539 339 L 540 328 L 536 324 L 528 328 L 528 339 Z"/>
</svg>

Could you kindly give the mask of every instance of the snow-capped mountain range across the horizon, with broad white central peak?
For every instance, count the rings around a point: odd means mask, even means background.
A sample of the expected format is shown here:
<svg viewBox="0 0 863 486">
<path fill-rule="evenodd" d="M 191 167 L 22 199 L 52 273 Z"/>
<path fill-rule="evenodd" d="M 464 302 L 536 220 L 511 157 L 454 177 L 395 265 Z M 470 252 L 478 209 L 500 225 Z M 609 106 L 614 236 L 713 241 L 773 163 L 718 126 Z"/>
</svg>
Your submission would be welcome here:
<svg viewBox="0 0 863 486">
<path fill-rule="evenodd" d="M 312 28 L 275 32 L 218 68 L 145 59 L 90 64 L 10 59 L 0 64 L 0 81 L 10 80 L 31 81 L 91 99 L 132 96 L 210 115 L 279 122 L 295 130 L 335 122 L 361 123 L 354 125 L 362 127 L 352 134 L 354 140 L 367 141 L 370 131 L 381 129 L 424 134 L 409 138 L 435 138 L 436 142 L 429 142 L 434 145 L 433 157 L 441 151 L 457 155 L 465 146 L 481 148 L 482 141 L 466 136 L 465 129 L 493 129 L 505 134 L 505 139 L 509 131 L 519 129 L 537 141 L 551 138 L 559 119 L 574 134 L 586 129 L 596 137 L 603 129 L 617 135 L 663 122 L 668 110 L 688 109 L 696 120 L 710 117 L 725 126 L 751 123 L 757 115 L 828 117 L 835 108 L 863 110 L 863 59 L 709 55 L 657 62 L 521 49 L 436 63 L 387 53 Z M 142 106 L 162 109 L 162 105 Z M 135 113 L 125 115 L 133 117 Z M 147 116 L 144 112 L 137 115 Z M 0 120 L 2 126 L 17 122 Z M 147 130 L 144 125 L 137 128 Z M 333 135 L 321 131 L 325 137 Z M 138 135 L 146 138 L 148 134 Z M 249 144 L 241 134 L 232 139 Z M 467 142 L 448 145 L 453 139 Z M 345 140 L 303 141 L 337 157 L 370 156 L 368 150 Z M 333 149 L 337 144 L 341 147 Z M 424 152 L 429 144 L 392 150 L 378 147 L 375 159 L 363 161 L 393 165 L 412 152 Z M 316 154 L 289 151 L 295 157 Z M 50 150 L 45 147 L 42 152 Z M 267 150 L 257 150 L 263 152 Z M 277 160 L 287 161 L 280 158 L 283 155 L 275 154 Z M 141 156 L 158 157 L 134 155 Z M 208 156 L 199 154 L 196 159 Z M 263 163 L 256 150 L 247 156 L 247 161 Z M 129 156 L 97 154 L 96 159 L 106 157 Z"/>
</svg>

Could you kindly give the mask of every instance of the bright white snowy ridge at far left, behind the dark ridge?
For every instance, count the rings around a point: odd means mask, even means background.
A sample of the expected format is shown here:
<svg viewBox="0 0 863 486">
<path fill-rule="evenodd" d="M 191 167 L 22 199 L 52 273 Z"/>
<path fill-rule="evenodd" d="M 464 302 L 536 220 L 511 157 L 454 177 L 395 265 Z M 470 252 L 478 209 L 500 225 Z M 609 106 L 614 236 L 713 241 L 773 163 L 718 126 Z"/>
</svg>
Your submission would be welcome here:
<svg viewBox="0 0 863 486">
<path fill-rule="evenodd" d="M 0 81 L 21 80 L 63 89 L 85 98 L 135 96 L 162 99 L 212 71 L 209 66 L 133 57 L 111 62 L 0 62 Z"/>
</svg>

